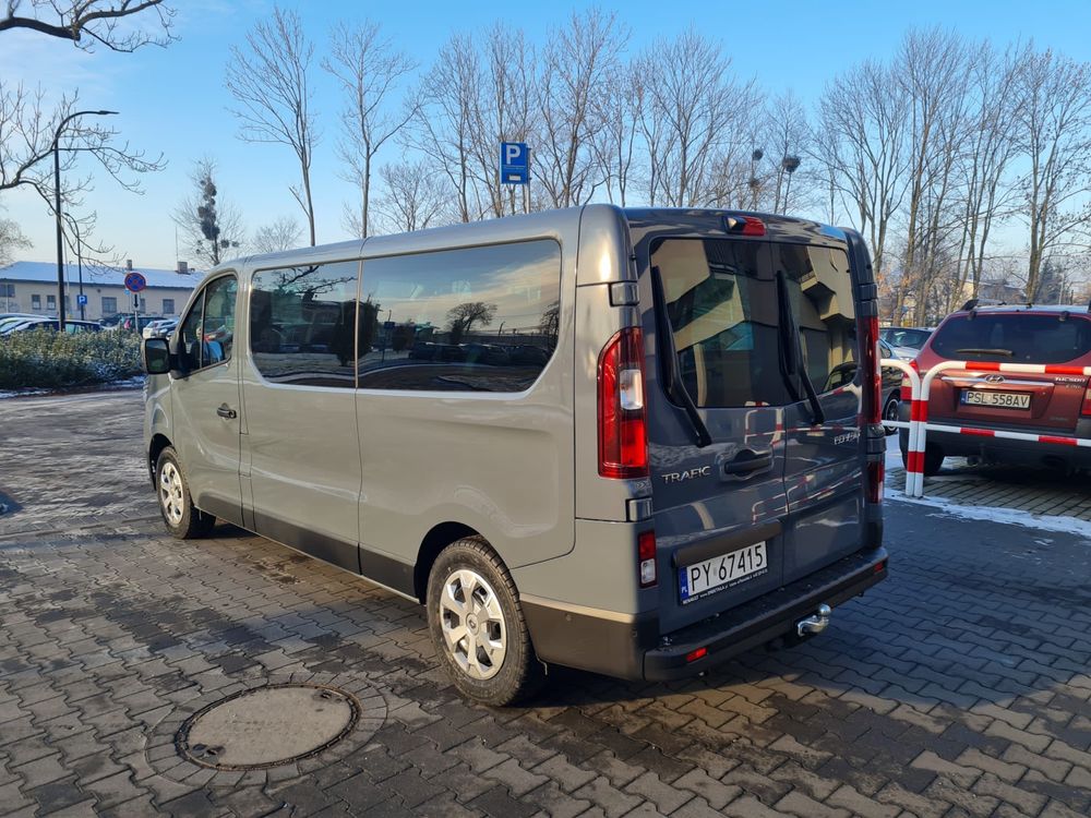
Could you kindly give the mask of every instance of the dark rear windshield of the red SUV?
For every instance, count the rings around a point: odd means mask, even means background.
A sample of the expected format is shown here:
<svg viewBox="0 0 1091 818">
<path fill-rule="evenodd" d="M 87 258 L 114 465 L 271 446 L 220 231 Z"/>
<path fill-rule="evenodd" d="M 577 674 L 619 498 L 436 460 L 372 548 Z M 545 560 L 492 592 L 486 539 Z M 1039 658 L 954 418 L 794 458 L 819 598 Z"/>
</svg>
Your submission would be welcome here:
<svg viewBox="0 0 1091 818">
<path fill-rule="evenodd" d="M 1077 315 L 957 315 L 932 349 L 952 360 L 1066 363 L 1091 352 L 1091 321 Z"/>
</svg>

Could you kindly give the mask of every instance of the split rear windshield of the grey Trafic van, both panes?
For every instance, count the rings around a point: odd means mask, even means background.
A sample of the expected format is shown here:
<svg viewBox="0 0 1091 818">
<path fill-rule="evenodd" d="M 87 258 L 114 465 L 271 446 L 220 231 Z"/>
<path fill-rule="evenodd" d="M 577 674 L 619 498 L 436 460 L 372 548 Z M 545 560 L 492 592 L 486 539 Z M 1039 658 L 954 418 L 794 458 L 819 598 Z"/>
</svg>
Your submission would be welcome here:
<svg viewBox="0 0 1091 818">
<path fill-rule="evenodd" d="M 842 250 L 662 239 L 652 244 L 651 263 L 662 276 L 679 369 L 696 406 L 783 406 L 799 399 L 781 369 L 779 272 L 815 389 L 828 392 L 853 378 L 855 311 Z"/>
</svg>

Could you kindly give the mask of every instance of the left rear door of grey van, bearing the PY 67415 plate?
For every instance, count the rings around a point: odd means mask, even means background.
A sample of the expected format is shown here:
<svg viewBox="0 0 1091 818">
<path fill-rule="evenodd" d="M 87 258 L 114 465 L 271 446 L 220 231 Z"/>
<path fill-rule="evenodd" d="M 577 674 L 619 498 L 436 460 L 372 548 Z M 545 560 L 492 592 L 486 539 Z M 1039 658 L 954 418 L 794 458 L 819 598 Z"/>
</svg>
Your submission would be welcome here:
<svg viewBox="0 0 1091 818">
<path fill-rule="evenodd" d="M 636 244 L 659 364 L 646 392 L 663 633 L 783 581 L 786 387 L 769 248 L 704 236 L 675 228 Z"/>
</svg>

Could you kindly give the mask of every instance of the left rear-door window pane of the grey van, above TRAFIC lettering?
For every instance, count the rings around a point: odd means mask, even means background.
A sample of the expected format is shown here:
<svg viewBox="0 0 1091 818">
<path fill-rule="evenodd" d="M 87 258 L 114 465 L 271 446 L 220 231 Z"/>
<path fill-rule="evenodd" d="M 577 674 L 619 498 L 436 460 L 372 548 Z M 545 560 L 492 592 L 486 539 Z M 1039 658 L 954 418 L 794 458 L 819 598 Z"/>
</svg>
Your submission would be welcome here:
<svg viewBox="0 0 1091 818">
<path fill-rule="evenodd" d="M 699 407 L 786 402 L 777 282 L 766 244 L 667 239 L 652 246 L 682 380 Z"/>
</svg>

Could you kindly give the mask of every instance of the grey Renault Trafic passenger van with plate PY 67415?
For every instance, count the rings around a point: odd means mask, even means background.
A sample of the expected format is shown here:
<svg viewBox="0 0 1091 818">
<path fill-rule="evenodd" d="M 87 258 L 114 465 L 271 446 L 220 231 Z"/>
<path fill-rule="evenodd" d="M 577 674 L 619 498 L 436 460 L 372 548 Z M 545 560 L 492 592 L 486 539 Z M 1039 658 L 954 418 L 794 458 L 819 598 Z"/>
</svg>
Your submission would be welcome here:
<svg viewBox="0 0 1091 818">
<path fill-rule="evenodd" d="M 551 213 L 223 265 L 145 341 L 167 528 L 420 601 L 467 696 L 673 679 L 886 576 L 876 289 L 851 230 Z"/>
</svg>

